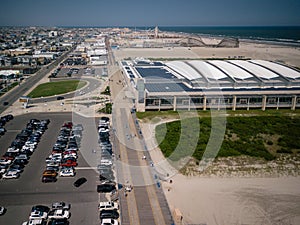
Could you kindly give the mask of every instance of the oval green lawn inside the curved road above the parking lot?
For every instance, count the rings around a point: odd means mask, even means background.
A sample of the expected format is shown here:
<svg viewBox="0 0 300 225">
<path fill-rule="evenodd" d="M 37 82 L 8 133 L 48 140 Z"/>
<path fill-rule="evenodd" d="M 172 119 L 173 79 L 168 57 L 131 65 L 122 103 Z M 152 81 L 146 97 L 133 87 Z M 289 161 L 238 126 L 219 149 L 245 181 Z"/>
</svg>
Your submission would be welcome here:
<svg viewBox="0 0 300 225">
<path fill-rule="evenodd" d="M 30 92 L 28 97 L 39 98 L 61 95 L 80 89 L 86 84 L 87 82 L 79 80 L 66 80 L 43 83 L 37 86 L 32 92 Z"/>
</svg>

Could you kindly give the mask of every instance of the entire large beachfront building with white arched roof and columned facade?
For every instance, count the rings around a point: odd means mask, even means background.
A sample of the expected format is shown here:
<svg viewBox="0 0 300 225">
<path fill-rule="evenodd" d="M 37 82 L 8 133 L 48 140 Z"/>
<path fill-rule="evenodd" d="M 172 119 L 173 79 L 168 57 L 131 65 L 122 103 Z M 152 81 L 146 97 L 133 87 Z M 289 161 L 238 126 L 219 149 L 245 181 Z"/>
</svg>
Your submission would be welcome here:
<svg viewBox="0 0 300 225">
<path fill-rule="evenodd" d="M 264 60 L 122 61 L 146 110 L 300 107 L 300 71 Z"/>
</svg>

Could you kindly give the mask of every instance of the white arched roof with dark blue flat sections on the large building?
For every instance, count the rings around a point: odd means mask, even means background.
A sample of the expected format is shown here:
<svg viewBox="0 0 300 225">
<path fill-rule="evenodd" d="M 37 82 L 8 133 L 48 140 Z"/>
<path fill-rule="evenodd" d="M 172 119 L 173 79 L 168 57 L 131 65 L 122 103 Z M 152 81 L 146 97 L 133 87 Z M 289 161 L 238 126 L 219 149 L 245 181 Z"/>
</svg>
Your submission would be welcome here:
<svg viewBox="0 0 300 225">
<path fill-rule="evenodd" d="M 127 76 L 148 92 L 299 88 L 300 71 L 265 60 L 124 61 Z"/>
</svg>

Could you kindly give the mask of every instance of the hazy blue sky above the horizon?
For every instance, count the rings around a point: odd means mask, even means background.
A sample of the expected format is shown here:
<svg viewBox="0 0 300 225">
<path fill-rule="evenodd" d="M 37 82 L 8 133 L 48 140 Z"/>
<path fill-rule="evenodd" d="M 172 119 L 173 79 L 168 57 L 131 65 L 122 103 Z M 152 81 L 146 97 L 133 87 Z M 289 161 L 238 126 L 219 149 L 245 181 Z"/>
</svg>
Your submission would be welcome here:
<svg viewBox="0 0 300 225">
<path fill-rule="evenodd" d="M 0 0 L 0 26 L 300 26 L 299 0 Z"/>
</svg>

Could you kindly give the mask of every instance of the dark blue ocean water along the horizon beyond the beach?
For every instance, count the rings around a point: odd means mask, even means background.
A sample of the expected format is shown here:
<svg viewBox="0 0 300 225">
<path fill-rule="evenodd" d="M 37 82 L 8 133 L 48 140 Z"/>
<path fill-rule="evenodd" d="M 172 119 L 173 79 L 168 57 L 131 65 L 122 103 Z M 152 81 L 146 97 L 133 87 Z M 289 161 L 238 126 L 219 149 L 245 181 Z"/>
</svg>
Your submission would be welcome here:
<svg viewBox="0 0 300 225">
<path fill-rule="evenodd" d="M 219 36 L 245 40 L 282 43 L 300 46 L 300 26 L 269 27 L 159 27 L 161 31 L 191 33 L 202 36 Z"/>
</svg>

